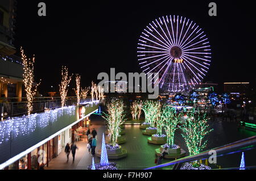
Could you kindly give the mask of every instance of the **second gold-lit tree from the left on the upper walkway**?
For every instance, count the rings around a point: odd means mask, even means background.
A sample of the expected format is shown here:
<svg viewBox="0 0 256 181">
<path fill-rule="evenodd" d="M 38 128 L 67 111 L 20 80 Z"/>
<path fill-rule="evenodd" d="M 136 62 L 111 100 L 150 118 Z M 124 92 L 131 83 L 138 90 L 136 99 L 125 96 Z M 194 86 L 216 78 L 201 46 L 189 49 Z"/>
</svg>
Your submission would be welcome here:
<svg viewBox="0 0 256 181">
<path fill-rule="evenodd" d="M 66 66 L 62 66 L 61 68 L 61 82 L 60 82 L 60 98 L 61 98 L 61 107 L 65 106 L 65 100 L 68 94 L 68 85 L 71 81 L 72 75 L 68 76 L 68 68 Z"/>
</svg>

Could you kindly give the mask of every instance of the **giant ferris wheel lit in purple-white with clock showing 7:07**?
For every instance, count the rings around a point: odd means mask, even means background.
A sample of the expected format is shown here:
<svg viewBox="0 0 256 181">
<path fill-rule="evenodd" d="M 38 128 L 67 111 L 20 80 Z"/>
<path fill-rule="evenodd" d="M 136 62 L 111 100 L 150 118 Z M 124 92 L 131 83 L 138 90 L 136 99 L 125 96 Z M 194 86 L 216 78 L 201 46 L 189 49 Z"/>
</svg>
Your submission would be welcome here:
<svg viewBox="0 0 256 181">
<path fill-rule="evenodd" d="M 142 71 L 159 73 L 159 86 L 168 92 L 190 90 L 203 80 L 210 66 L 208 38 L 183 16 L 163 16 L 149 23 L 137 52 Z"/>
</svg>

